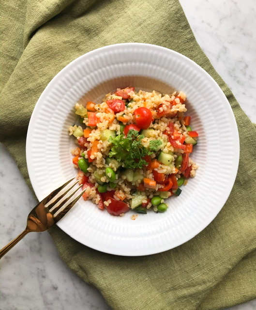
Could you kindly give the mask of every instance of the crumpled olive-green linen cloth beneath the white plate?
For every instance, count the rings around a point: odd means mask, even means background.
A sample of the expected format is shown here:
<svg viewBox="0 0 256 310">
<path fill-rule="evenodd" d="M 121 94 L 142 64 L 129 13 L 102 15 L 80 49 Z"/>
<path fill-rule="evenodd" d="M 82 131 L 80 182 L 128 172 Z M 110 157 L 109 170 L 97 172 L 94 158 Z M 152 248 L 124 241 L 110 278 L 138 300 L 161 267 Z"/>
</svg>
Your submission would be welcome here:
<svg viewBox="0 0 256 310">
<path fill-rule="evenodd" d="M 164 253 L 120 257 L 87 248 L 54 227 L 63 261 L 116 310 L 213 310 L 256 298 L 256 127 L 197 45 L 178 0 L 1 4 L 1 141 L 28 184 L 25 139 L 37 99 L 60 69 L 97 47 L 142 42 L 189 57 L 222 88 L 239 128 L 235 185 L 203 232 Z"/>
</svg>

